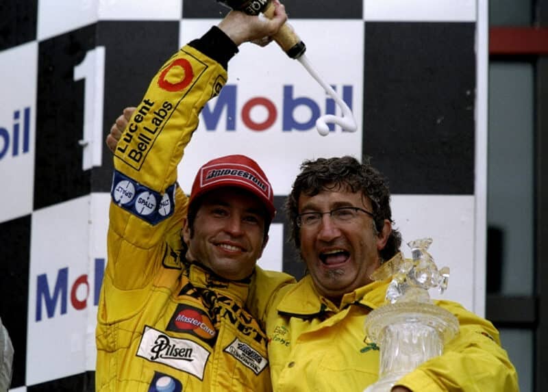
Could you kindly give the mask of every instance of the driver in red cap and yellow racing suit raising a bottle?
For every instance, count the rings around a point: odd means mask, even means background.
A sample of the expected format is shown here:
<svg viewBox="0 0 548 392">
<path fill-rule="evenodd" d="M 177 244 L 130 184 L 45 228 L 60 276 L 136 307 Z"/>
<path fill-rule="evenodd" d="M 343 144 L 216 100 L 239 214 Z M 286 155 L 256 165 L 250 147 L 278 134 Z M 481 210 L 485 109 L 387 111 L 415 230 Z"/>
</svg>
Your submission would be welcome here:
<svg viewBox="0 0 548 392">
<path fill-rule="evenodd" d="M 285 18 L 279 4 L 270 21 L 230 12 L 160 68 L 127 123 L 114 157 L 97 391 L 271 390 L 266 335 L 245 309 L 256 276 L 265 293 L 292 279 L 256 266 L 271 185 L 255 161 L 230 155 L 202 166 L 188 199 L 176 168 L 238 44 Z"/>
</svg>

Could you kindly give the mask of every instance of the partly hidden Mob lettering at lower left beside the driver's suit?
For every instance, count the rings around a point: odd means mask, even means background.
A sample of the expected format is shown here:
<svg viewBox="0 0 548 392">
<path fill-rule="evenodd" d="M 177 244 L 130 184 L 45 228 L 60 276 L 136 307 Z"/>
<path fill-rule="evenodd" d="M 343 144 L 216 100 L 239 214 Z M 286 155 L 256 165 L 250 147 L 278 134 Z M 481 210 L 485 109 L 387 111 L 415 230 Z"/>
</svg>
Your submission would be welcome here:
<svg viewBox="0 0 548 392">
<path fill-rule="evenodd" d="M 97 306 L 99 304 L 99 293 L 105 271 L 105 259 L 95 259 L 94 264 L 92 294 L 93 304 Z M 72 280 L 69 276 L 69 267 L 58 270 L 57 276 L 52 280 L 48 279 L 47 274 L 38 275 L 36 278 L 35 321 L 39 322 L 42 320 L 42 317 L 44 317 L 42 311 L 44 309 L 49 319 L 55 316 L 58 308 L 60 308 L 60 315 L 66 314 L 69 303 L 77 311 L 86 309 L 90 294 L 88 274 L 82 274 Z"/>
</svg>

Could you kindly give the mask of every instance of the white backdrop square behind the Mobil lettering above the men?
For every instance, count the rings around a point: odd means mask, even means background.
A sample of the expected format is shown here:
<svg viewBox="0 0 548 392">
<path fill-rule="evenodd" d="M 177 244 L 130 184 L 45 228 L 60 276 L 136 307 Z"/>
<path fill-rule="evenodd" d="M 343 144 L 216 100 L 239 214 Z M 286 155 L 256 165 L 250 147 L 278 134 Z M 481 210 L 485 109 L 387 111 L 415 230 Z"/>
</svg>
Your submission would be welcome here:
<svg viewBox="0 0 548 392">
<path fill-rule="evenodd" d="M 200 36 L 214 21 L 184 21 L 181 42 Z M 292 21 L 292 26 L 307 45 L 306 56 L 314 68 L 341 96 L 345 91 L 351 97 L 351 109 L 358 124 L 358 132 L 343 132 L 339 127 L 327 137 L 321 137 L 315 128 L 310 107 L 326 113 L 329 101 L 323 88 L 307 73 L 297 60 L 291 60 L 276 44 L 260 49 L 253 44 L 240 46 L 240 53 L 229 64 L 228 85 L 234 85 L 238 108 L 256 97 L 273 103 L 275 121 L 264 131 L 253 131 L 242 119 L 245 109 L 236 112 L 235 130 L 227 131 L 227 111 L 219 116 L 216 127 L 208 129 L 203 120 L 179 165 L 179 181 L 184 190 L 190 190 L 199 166 L 214 157 L 242 153 L 256 159 L 264 168 L 273 185 L 274 194 L 290 192 L 293 179 L 303 159 L 336 155 L 361 156 L 362 152 L 362 86 L 363 36 L 362 21 Z M 348 37 L 352 39 L 349 40 Z M 258 52 L 260 51 L 260 52 Z M 284 98 L 284 88 L 291 98 Z M 226 89 L 226 87 L 225 87 Z M 346 90 L 345 90 L 346 89 Z M 295 105 L 295 99 L 304 99 L 308 105 Z M 217 99 L 208 103 L 214 110 Z M 249 113 L 254 122 L 268 118 L 269 112 L 256 105 Z M 340 111 L 337 109 L 337 114 Z M 285 124 L 284 124 L 284 118 Z M 304 129 L 282 131 L 287 123 L 310 121 Z M 273 151 L 277 153 L 273 154 Z"/>
</svg>

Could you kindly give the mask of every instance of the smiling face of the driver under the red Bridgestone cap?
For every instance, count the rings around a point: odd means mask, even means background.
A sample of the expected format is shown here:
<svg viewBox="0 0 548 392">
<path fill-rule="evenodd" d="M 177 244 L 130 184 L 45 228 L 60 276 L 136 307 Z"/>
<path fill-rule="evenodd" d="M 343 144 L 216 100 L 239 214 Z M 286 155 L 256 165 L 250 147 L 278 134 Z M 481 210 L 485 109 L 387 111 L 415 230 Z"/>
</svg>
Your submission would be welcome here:
<svg viewBox="0 0 548 392">
<path fill-rule="evenodd" d="M 186 259 L 199 261 L 230 280 L 246 278 L 261 257 L 265 209 L 256 196 L 238 188 L 223 187 L 200 200 L 193 227 L 185 222 Z"/>
</svg>

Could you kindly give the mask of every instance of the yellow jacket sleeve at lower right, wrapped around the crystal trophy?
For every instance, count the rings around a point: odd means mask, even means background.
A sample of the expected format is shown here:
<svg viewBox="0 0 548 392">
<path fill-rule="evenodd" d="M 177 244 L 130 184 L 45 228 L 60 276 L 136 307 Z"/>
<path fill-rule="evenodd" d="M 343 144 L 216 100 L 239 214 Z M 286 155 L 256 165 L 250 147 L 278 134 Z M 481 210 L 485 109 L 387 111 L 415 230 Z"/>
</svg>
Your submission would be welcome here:
<svg viewBox="0 0 548 392">
<path fill-rule="evenodd" d="M 516 369 L 488 320 L 455 302 L 438 302 L 459 320 L 460 333 L 430 359 L 397 382 L 411 391 L 519 392 Z"/>
</svg>

